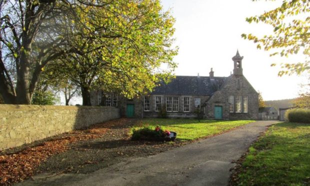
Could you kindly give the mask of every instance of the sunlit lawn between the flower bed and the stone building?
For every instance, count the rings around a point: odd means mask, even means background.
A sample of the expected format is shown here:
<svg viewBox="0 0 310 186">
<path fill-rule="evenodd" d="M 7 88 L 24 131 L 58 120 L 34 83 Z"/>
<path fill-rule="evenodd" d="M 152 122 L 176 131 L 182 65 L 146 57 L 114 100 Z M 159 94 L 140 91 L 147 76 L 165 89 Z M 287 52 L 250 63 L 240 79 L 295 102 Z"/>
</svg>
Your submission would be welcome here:
<svg viewBox="0 0 310 186">
<path fill-rule="evenodd" d="M 151 126 L 155 128 L 156 125 L 163 129 L 175 131 L 176 138 L 180 140 L 193 140 L 200 137 L 214 135 L 231 128 L 253 122 L 253 120 L 236 120 L 236 121 L 218 121 L 218 120 L 200 120 L 197 119 L 161 119 L 149 118 L 142 119 L 137 122 L 135 128 L 141 126 Z"/>
</svg>

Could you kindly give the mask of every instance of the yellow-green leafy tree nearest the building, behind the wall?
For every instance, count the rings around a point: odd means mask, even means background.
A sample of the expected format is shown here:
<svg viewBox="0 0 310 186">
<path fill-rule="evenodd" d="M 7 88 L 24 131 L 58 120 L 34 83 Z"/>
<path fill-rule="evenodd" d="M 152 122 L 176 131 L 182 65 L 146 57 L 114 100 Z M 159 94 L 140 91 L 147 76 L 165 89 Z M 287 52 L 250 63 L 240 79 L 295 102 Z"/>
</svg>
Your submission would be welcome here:
<svg viewBox="0 0 310 186">
<path fill-rule="evenodd" d="M 151 91 L 160 80 L 167 81 L 176 66 L 172 56 L 177 51 L 170 48 L 174 19 L 168 12 L 161 12 L 158 0 L 134 2 L 131 6 L 133 10 L 128 11 L 127 3 L 119 4 L 117 11 L 123 13 L 117 14 L 117 22 L 106 26 L 116 33 L 113 39 L 100 38 L 102 44 L 98 46 L 97 42 L 89 43 L 87 36 L 77 36 L 75 45 L 89 52 L 69 53 L 46 66 L 46 70 L 57 70 L 57 76 L 67 76 L 80 86 L 83 105 L 90 105 L 91 89 L 117 91 L 129 98 Z M 109 11 L 95 10 L 93 14 L 103 16 Z M 90 18 L 91 13 L 87 16 L 92 25 L 100 23 Z M 96 30 L 96 35 L 105 32 Z M 160 69 L 163 63 L 168 65 L 165 70 Z"/>
</svg>

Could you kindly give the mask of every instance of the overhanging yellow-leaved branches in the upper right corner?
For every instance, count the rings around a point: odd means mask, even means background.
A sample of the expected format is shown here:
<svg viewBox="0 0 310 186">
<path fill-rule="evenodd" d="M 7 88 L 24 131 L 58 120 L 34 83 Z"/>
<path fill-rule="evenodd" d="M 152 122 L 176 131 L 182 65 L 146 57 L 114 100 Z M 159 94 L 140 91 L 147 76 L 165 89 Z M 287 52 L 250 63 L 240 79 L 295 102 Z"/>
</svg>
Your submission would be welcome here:
<svg viewBox="0 0 310 186">
<path fill-rule="evenodd" d="M 310 3 L 308 0 L 283 0 L 281 6 L 265 11 L 258 16 L 247 17 L 246 21 L 263 22 L 273 27 L 273 34 L 257 37 L 253 34 L 241 34 L 244 39 L 252 40 L 256 47 L 268 51 L 275 49 L 272 55 L 288 56 L 302 52 L 305 61 L 295 63 L 284 63 L 283 70 L 278 75 L 300 74 L 303 71 L 310 73 Z M 275 64 L 271 64 L 274 66 Z"/>
</svg>

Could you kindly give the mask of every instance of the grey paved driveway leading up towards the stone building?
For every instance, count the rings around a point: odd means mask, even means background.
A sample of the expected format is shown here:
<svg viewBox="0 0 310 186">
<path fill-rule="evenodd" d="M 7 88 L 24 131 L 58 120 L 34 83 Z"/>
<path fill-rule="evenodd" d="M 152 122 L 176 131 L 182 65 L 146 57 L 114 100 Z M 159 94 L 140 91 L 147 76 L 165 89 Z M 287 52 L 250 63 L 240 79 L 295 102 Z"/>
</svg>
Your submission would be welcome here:
<svg viewBox="0 0 310 186">
<path fill-rule="evenodd" d="M 221 135 L 89 174 L 35 176 L 20 185 L 227 185 L 231 163 L 276 121 L 257 121 Z"/>
</svg>

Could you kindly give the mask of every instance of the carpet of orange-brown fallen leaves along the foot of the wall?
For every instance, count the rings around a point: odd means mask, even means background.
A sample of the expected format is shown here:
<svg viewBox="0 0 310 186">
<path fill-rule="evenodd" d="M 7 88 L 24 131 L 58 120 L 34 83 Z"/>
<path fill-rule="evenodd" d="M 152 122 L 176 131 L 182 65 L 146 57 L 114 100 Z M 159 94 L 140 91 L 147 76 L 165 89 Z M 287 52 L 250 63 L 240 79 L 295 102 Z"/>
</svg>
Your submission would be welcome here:
<svg viewBox="0 0 310 186">
<path fill-rule="evenodd" d="M 126 123 L 125 118 L 96 124 L 89 129 L 68 132 L 60 138 L 55 137 L 55 139 L 45 141 L 38 146 L 27 147 L 13 154 L 1 155 L 0 185 L 9 185 L 13 182 L 22 181 L 31 176 L 34 169 L 41 162 L 45 161 L 48 156 L 67 150 L 69 148 L 68 144 L 102 137 L 110 130 L 109 127 L 117 127 L 117 125 L 122 123 Z"/>
</svg>

